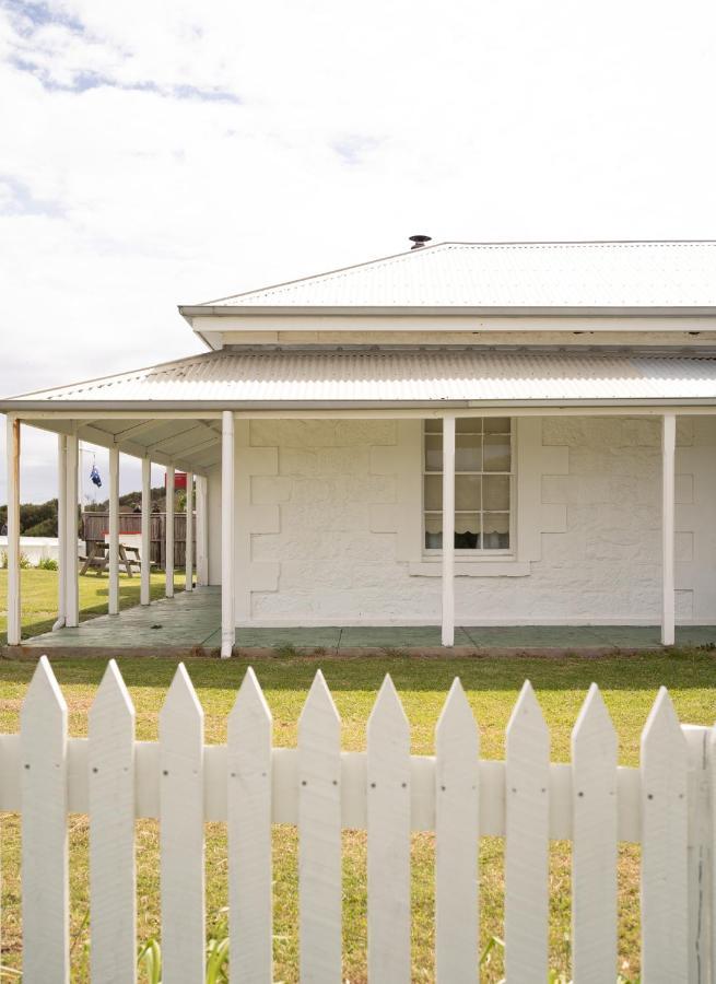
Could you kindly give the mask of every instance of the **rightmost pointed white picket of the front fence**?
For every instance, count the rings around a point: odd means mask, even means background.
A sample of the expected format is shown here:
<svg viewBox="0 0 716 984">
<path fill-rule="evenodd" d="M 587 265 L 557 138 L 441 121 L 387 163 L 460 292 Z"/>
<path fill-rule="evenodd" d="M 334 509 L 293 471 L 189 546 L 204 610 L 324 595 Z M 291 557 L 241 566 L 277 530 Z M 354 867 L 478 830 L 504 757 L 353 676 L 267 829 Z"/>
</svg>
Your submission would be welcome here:
<svg viewBox="0 0 716 984">
<path fill-rule="evenodd" d="M 665 687 L 642 733 L 642 980 L 688 981 L 688 749 Z"/>
</svg>

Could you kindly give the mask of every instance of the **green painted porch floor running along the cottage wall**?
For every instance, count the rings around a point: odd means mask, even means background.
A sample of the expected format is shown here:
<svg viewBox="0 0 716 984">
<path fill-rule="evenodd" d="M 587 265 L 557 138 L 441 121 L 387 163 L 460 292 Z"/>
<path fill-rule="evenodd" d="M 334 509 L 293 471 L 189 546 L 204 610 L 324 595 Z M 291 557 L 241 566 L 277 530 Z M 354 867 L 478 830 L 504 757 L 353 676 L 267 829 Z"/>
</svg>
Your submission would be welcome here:
<svg viewBox="0 0 716 984">
<path fill-rule="evenodd" d="M 149 606 L 127 608 L 117 616 L 87 619 L 77 629 L 60 629 L 33 639 L 24 646 L 93 646 L 107 649 L 174 648 L 201 646 L 216 648 L 221 643 L 221 591 L 198 588 L 180 591 L 172 599 Z M 716 625 L 683 625 L 677 629 L 677 644 L 699 646 L 716 644 Z M 275 649 L 289 646 L 326 648 L 432 648 L 441 645 L 437 625 L 391 625 L 389 628 L 285 626 L 279 629 L 238 629 L 238 648 Z M 495 648 L 579 649 L 601 646 L 642 648 L 659 645 L 658 625 L 495 625 L 459 626 L 455 645 Z"/>
</svg>

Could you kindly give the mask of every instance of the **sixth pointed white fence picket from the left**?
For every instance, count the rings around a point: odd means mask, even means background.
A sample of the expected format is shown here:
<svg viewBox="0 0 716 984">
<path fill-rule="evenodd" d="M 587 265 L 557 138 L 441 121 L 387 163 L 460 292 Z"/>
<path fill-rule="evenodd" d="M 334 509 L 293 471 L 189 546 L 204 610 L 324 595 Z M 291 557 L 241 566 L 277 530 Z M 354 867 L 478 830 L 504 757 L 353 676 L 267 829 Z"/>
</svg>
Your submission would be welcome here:
<svg viewBox="0 0 716 984">
<path fill-rule="evenodd" d="M 368 980 L 409 984 L 410 726 L 386 676 L 367 726 Z"/>
</svg>

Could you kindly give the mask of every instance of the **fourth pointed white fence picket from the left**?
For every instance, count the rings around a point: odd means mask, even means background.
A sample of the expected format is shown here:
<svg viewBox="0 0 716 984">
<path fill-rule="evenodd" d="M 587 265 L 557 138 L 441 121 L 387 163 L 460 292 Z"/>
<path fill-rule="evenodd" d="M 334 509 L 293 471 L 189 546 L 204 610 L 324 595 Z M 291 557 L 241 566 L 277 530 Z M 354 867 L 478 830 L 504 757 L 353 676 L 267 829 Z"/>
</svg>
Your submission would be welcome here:
<svg viewBox="0 0 716 984">
<path fill-rule="evenodd" d="M 249 667 L 227 736 L 228 933 L 234 984 L 271 984 L 271 712 Z"/>
</svg>

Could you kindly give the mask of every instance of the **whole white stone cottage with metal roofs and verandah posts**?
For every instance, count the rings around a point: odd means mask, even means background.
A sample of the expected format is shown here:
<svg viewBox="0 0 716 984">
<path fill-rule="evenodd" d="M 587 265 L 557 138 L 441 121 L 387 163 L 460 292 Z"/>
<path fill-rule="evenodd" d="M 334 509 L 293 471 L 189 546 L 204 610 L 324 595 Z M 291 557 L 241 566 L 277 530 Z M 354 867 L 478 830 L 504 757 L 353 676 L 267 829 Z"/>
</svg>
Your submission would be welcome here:
<svg viewBox="0 0 716 984">
<path fill-rule="evenodd" d="M 60 435 L 59 624 L 79 440 L 114 538 L 120 452 L 145 505 L 150 460 L 197 477 L 224 656 L 236 625 L 716 623 L 716 243 L 441 243 L 179 309 L 204 354 L 0 402 L 10 644 L 21 421 Z"/>
</svg>

